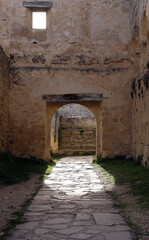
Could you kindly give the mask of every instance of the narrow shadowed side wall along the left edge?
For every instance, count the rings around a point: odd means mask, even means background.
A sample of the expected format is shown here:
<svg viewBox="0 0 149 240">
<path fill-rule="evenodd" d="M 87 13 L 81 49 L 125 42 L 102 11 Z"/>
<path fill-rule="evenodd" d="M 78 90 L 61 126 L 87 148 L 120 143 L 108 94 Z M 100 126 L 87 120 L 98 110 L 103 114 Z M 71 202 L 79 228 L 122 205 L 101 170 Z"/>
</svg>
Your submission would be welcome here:
<svg viewBox="0 0 149 240">
<path fill-rule="evenodd" d="M 0 151 L 8 151 L 9 63 L 0 46 Z"/>
</svg>

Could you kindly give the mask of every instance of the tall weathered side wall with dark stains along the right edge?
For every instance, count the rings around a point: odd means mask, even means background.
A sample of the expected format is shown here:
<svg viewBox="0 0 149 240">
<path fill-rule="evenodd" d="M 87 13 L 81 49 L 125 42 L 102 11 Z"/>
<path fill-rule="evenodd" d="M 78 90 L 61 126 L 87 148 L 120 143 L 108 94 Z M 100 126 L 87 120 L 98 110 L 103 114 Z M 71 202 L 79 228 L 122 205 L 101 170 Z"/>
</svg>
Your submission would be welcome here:
<svg viewBox="0 0 149 240">
<path fill-rule="evenodd" d="M 132 154 L 149 167 L 149 1 L 132 1 Z"/>
</svg>

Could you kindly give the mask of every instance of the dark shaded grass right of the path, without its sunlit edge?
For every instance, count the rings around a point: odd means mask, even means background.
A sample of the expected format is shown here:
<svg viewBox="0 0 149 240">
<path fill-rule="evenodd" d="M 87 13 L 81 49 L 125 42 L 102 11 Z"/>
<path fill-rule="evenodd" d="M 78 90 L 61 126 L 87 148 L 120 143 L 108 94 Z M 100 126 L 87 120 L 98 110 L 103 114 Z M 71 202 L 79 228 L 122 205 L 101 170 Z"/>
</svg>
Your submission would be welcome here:
<svg viewBox="0 0 149 240">
<path fill-rule="evenodd" d="M 125 157 L 94 159 L 96 163 L 110 174 L 115 184 L 130 184 L 130 193 L 137 197 L 137 202 L 144 208 L 149 208 L 149 169 L 138 164 L 133 159 Z"/>
</svg>

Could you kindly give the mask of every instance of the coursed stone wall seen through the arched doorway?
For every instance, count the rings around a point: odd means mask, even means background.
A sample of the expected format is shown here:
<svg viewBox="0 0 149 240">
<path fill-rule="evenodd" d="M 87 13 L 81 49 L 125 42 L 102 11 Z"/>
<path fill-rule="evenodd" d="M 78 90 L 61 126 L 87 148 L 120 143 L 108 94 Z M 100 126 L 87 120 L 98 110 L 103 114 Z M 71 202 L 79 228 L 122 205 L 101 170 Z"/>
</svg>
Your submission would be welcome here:
<svg viewBox="0 0 149 240">
<path fill-rule="evenodd" d="M 60 117 L 59 152 L 96 151 L 96 120 L 94 117 Z"/>
</svg>

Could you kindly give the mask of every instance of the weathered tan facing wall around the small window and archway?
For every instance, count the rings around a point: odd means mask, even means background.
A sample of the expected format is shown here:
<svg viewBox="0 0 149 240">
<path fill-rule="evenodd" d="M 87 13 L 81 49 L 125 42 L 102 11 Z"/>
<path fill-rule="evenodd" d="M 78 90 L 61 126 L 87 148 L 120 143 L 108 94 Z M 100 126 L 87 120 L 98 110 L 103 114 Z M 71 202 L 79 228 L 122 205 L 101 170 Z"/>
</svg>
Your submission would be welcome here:
<svg viewBox="0 0 149 240">
<path fill-rule="evenodd" d="M 22 1 L 9 7 L 11 153 L 44 156 L 42 95 L 102 93 L 102 154 L 130 154 L 129 2 L 54 0 L 46 30 L 32 29 Z"/>
</svg>

